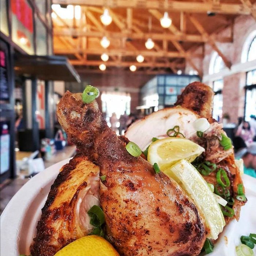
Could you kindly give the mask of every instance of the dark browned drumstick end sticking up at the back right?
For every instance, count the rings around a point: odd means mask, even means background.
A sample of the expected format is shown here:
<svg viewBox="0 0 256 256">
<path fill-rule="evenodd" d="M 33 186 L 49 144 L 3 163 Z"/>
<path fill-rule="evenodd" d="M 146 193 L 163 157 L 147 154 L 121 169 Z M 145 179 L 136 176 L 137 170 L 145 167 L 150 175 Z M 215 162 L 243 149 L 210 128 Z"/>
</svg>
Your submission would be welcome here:
<svg viewBox="0 0 256 256">
<path fill-rule="evenodd" d="M 206 84 L 193 82 L 185 87 L 185 90 L 178 95 L 174 105 L 194 110 L 199 116 L 212 119 L 212 104 L 214 93 Z"/>
</svg>

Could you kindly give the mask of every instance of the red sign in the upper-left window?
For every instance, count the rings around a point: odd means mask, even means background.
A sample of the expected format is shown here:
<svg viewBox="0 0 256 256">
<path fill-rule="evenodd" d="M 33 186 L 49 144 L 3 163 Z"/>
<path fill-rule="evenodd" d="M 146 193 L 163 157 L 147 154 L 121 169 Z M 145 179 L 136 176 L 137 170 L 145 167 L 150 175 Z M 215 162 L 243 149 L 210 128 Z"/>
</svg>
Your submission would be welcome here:
<svg viewBox="0 0 256 256">
<path fill-rule="evenodd" d="M 11 0 L 12 13 L 26 29 L 33 33 L 33 13 L 26 0 Z"/>
</svg>

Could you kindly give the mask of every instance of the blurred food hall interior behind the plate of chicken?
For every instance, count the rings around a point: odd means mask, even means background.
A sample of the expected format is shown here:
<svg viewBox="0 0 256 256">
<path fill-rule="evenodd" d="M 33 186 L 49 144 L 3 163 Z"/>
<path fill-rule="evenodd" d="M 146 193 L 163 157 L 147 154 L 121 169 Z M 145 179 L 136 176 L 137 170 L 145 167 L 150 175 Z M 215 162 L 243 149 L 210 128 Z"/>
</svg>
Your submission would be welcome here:
<svg viewBox="0 0 256 256">
<path fill-rule="evenodd" d="M 256 157 L 255 0 L 0 3 L 1 212 L 32 176 L 76 153 L 56 106 L 88 84 L 123 135 L 203 82 L 236 153 Z"/>
</svg>

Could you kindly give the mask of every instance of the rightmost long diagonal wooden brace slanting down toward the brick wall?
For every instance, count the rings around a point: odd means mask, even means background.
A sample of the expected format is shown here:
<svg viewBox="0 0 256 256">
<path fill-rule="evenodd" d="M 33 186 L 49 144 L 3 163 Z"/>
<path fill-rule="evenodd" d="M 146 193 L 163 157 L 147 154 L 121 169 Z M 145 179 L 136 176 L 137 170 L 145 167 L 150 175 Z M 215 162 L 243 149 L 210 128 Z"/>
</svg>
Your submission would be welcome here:
<svg viewBox="0 0 256 256">
<path fill-rule="evenodd" d="M 211 45 L 212 49 L 214 49 L 219 56 L 222 58 L 223 62 L 225 63 L 227 68 L 231 68 L 231 63 L 230 61 L 226 58 L 226 56 L 222 53 L 222 51 L 218 48 L 218 46 L 215 44 L 214 39 L 210 37 L 210 35 L 206 32 L 204 29 L 203 25 L 192 15 L 189 14 L 189 19 L 193 23 L 193 25 L 196 27 L 196 29 L 204 36 L 208 38 L 208 43 Z"/>
</svg>

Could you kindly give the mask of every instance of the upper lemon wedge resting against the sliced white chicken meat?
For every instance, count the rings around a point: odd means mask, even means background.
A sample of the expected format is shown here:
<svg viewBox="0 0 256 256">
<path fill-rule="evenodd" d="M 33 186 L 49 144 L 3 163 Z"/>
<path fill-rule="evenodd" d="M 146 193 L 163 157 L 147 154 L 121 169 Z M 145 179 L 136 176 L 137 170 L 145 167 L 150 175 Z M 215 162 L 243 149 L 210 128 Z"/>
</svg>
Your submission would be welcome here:
<svg viewBox="0 0 256 256">
<path fill-rule="evenodd" d="M 148 148 L 147 161 L 157 163 L 161 170 L 181 159 L 192 162 L 204 152 L 204 148 L 188 139 L 165 138 L 153 142 Z"/>
</svg>

